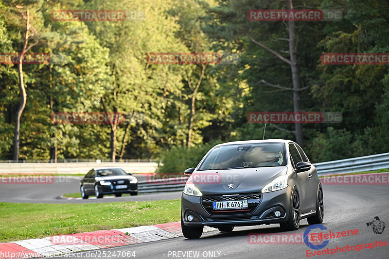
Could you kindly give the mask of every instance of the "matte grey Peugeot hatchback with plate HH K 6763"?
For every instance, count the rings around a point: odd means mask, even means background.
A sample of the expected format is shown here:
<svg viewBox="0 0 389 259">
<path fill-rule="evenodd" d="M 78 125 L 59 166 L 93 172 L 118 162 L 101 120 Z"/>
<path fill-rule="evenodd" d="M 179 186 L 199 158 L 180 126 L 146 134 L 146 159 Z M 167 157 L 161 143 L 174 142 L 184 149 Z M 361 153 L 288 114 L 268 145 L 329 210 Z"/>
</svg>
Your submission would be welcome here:
<svg viewBox="0 0 389 259">
<path fill-rule="evenodd" d="M 323 222 L 318 173 L 302 148 L 290 140 L 219 144 L 189 177 L 181 196 L 181 228 L 199 238 L 204 226 L 230 232 L 235 226 L 280 224 L 296 230 L 300 220 Z"/>
</svg>

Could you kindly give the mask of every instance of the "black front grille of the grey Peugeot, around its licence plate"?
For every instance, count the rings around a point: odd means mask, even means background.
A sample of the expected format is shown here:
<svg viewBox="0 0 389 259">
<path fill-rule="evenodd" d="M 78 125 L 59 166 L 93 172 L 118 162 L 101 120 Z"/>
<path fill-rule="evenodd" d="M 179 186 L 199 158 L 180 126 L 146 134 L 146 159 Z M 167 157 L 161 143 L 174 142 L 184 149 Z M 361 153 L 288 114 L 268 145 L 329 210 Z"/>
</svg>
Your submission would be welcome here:
<svg viewBox="0 0 389 259">
<path fill-rule="evenodd" d="M 213 210 L 213 201 L 232 201 L 232 200 L 248 200 L 248 208 L 245 209 L 230 209 L 230 210 Z M 224 216 L 230 215 L 247 215 L 252 213 L 261 201 L 261 194 L 238 194 L 236 196 L 223 196 L 223 195 L 207 195 L 201 197 L 201 204 L 203 208 L 210 215 L 221 216 L 220 220 Z"/>
</svg>

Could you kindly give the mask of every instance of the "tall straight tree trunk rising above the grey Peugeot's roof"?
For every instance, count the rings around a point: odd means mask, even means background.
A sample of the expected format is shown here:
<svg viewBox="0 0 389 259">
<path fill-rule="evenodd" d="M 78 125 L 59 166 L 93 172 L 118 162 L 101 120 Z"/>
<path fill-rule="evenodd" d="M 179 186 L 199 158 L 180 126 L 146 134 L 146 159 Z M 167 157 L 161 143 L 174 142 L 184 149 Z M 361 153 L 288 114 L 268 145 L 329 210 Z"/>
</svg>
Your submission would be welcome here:
<svg viewBox="0 0 389 259">
<path fill-rule="evenodd" d="M 292 0 L 288 0 L 288 9 L 293 9 Z M 290 53 L 290 69 L 292 71 L 293 82 L 293 111 L 295 113 L 300 112 L 300 84 L 299 84 L 299 71 L 297 66 L 296 57 L 296 35 L 295 35 L 295 22 L 288 21 L 289 25 L 289 53 Z M 302 127 L 301 123 L 295 123 L 295 136 L 296 142 L 302 146 Z"/>
</svg>

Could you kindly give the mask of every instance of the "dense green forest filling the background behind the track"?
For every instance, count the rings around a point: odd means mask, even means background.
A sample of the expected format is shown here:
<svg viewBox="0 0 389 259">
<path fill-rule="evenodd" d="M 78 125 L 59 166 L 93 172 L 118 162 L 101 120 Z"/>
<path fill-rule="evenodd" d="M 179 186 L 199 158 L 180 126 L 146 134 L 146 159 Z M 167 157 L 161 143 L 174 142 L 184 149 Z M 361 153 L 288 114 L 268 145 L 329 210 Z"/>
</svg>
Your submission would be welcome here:
<svg viewBox="0 0 389 259">
<path fill-rule="evenodd" d="M 262 9 L 331 9 L 342 17 L 248 18 Z M 127 16 L 64 21 L 56 10 Z M 0 0 L 0 52 L 51 57 L 2 59 L 0 160 L 162 158 L 174 171 L 217 143 L 262 139 L 265 124 L 249 123 L 250 112 L 341 113 L 341 123 L 266 125 L 266 139 L 295 140 L 312 162 L 389 151 L 389 66 L 320 62 L 323 53 L 389 53 L 384 0 Z M 161 52 L 218 53 L 221 62 L 147 58 Z M 53 113 L 127 119 L 61 124 Z"/>
</svg>

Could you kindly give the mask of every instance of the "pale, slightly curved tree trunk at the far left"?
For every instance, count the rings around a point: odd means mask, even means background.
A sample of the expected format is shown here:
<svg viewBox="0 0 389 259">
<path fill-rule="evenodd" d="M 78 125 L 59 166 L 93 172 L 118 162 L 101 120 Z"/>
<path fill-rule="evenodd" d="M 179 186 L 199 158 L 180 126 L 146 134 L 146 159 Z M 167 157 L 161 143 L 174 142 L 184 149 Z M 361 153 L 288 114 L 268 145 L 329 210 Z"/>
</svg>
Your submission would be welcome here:
<svg viewBox="0 0 389 259">
<path fill-rule="evenodd" d="M 23 80 L 23 55 L 27 48 L 29 29 L 30 29 L 30 12 L 29 10 L 27 10 L 26 34 L 24 36 L 24 45 L 20 53 L 19 64 L 18 64 L 19 88 L 20 88 L 21 99 L 20 99 L 20 105 L 18 111 L 16 112 L 16 118 L 15 118 L 14 152 L 12 156 L 12 159 L 15 162 L 19 161 L 20 117 L 21 117 L 21 113 L 23 113 L 24 107 L 26 107 L 26 101 L 27 101 L 27 93 L 24 87 L 24 80 Z"/>
</svg>

